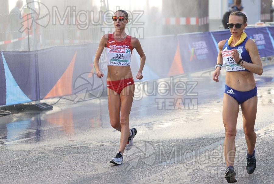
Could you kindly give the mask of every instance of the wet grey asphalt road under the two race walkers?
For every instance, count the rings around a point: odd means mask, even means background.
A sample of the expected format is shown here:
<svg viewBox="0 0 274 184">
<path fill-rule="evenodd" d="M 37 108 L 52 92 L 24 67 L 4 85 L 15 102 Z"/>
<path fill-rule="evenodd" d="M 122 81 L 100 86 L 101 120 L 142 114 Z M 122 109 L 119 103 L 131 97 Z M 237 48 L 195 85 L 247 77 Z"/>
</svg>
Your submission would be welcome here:
<svg viewBox="0 0 274 184">
<path fill-rule="evenodd" d="M 78 103 L 61 99 L 50 111 L 12 111 L 0 117 L 0 183 L 227 183 L 224 77 L 223 70 L 219 83 L 202 72 L 135 83 L 130 127 L 138 133 L 118 166 L 109 163 L 120 133 L 110 126 L 105 93 Z M 238 183 L 273 183 L 274 66 L 255 79 L 258 164 L 246 173 L 239 113 L 234 168 Z"/>
</svg>

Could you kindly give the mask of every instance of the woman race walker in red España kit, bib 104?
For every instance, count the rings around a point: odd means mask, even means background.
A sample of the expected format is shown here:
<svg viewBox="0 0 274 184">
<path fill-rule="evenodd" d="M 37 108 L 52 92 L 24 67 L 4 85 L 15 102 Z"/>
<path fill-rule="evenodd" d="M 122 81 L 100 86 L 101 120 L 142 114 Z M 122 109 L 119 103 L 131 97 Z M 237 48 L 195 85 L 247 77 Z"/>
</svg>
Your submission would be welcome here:
<svg viewBox="0 0 274 184">
<path fill-rule="evenodd" d="M 128 13 L 125 10 L 118 10 L 114 13 L 112 20 L 115 31 L 101 38 L 93 64 L 97 77 L 103 77 L 104 74 L 99 68 L 99 58 L 106 48 L 109 118 L 111 126 L 121 132 L 119 151 L 110 162 L 119 165 L 123 161 L 124 150 L 132 148 L 133 138 L 137 133 L 135 128 L 129 129 L 129 114 L 135 89 L 130 69 L 132 50 L 135 48 L 140 55 L 140 68 L 136 79 L 143 78 L 142 70 L 146 56 L 139 40 L 125 33 L 125 25 L 129 21 Z"/>
</svg>

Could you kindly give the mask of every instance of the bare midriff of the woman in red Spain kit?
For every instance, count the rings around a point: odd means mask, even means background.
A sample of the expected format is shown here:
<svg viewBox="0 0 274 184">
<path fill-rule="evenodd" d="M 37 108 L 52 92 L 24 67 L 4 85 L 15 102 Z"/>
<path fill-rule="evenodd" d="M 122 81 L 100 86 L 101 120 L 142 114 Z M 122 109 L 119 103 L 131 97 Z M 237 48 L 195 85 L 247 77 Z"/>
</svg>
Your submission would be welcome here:
<svg viewBox="0 0 274 184">
<path fill-rule="evenodd" d="M 131 78 L 132 73 L 130 66 L 107 66 L 107 80 L 114 81 L 114 80 L 122 80 Z"/>
</svg>

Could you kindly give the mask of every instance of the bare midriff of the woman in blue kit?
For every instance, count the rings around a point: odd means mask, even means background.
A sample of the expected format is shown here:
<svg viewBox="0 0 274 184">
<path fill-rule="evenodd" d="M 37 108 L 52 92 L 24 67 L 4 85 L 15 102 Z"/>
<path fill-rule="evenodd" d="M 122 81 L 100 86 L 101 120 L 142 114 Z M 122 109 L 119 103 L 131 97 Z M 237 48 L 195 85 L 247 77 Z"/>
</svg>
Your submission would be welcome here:
<svg viewBox="0 0 274 184">
<path fill-rule="evenodd" d="M 253 73 L 247 71 L 226 72 L 226 84 L 237 91 L 249 91 L 256 85 Z"/>
</svg>

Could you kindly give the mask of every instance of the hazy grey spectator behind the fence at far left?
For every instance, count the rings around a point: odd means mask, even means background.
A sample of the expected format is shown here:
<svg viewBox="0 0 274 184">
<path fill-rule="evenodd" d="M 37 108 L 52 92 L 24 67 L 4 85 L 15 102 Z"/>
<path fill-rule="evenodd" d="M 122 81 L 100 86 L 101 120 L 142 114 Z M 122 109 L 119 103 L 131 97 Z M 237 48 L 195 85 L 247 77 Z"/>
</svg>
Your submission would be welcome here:
<svg viewBox="0 0 274 184">
<path fill-rule="evenodd" d="M 16 2 L 15 7 L 10 11 L 11 21 L 9 25 L 12 33 L 12 39 L 17 39 L 22 37 L 22 33 L 19 32 L 19 29 L 21 27 L 20 9 L 22 8 L 22 6 L 23 6 L 23 1 L 18 0 Z M 21 48 L 20 40 L 12 43 L 13 51 L 19 51 L 20 48 Z"/>
</svg>

